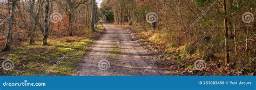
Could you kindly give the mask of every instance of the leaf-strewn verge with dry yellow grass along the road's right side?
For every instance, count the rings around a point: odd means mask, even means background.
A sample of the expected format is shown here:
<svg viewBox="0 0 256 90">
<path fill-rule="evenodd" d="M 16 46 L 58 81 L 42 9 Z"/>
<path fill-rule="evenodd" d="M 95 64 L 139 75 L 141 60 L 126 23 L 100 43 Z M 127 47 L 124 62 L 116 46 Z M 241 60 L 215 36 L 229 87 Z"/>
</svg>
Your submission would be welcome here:
<svg viewBox="0 0 256 90">
<path fill-rule="evenodd" d="M 117 25 L 119 26 L 119 25 Z M 208 56 L 205 61 L 203 70 L 196 70 L 194 63 L 204 56 L 204 52 L 201 53 L 198 49 L 195 49 L 193 54 L 188 53 L 191 47 L 187 44 L 177 45 L 172 43 L 171 39 L 166 38 L 166 34 L 163 33 L 164 29 L 159 28 L 156 30 L 143 31 L 139 26 L 119 26 L 124 28 L 130 28 L 131 32 L 139 40 L 140 44 L 146 45 L 150 51 L 157 51 L 160 54 L 159 60 L 155 65 L 159 69 L 166 70 L 167 75 L 199 75 L 199 76 L 239 76 L 241 72 L 235 68 L 227 68 L 222 64 L 224 61 L 221 59 L 221 55 Z M 205 52 L 208 53 L 208 52 Z M 210 52 L 211 53 L 211 52 Z M 222 54 L 221 52 L 218 54 Z M 215 60 L 214 60 L 215 59 Z M 217 60 L 216 60 L 217 59 Z M 251 76 L 252 74 L 246 74 Z"/>
</svg>

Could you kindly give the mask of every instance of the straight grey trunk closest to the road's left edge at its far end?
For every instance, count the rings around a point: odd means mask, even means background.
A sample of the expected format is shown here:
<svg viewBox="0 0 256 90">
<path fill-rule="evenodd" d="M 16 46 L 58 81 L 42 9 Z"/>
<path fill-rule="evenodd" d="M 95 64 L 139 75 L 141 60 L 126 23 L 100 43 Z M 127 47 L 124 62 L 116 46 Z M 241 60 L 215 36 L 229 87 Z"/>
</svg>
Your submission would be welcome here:
<svg viewBox="0 0 256 90">
<path fill-rule="evenodd" d="M 90 27 L 90 29 L 91 29 L 91 31 L 92 32 L 95 32 L 95 0 L 92 0 L 92 15 L 91 15 L 91 27 Z"/>
</svg>

